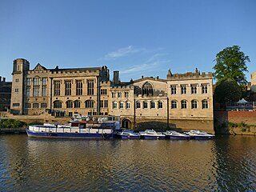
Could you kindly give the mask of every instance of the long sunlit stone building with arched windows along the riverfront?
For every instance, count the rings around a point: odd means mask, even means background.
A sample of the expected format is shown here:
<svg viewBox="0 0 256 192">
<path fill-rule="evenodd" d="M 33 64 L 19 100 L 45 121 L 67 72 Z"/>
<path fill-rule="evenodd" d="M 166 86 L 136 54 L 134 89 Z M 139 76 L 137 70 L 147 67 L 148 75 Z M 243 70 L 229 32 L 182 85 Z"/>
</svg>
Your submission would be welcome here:
<svg viewBox="0 0 256 192">
<path fill-rule="evenodd" d="M 166 79 L 143 77 L 122 82 L 106 66 L 30 70 L 25 59 L 14 60 L 13 114 L 120 116 L 122 127 L 180 127 L 214 131 L 211 73 L 172 74 Z"/>
</svg>

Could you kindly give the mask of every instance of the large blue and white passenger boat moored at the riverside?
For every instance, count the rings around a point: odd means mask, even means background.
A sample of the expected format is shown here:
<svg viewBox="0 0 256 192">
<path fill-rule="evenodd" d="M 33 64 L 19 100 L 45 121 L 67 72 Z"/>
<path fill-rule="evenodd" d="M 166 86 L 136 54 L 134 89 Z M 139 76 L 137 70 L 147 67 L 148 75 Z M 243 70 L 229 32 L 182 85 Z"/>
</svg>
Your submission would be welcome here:
<svg viewBox="0 0 256 192">
<path fill-rule="evenodd" d="M 94 121 L 70 121 L 68 125 L 32 125 L 26 129 L 29 137 L 36 138 L 115 138 L 122 130 L 119 121 L 100 118 Z"/>
</svg>

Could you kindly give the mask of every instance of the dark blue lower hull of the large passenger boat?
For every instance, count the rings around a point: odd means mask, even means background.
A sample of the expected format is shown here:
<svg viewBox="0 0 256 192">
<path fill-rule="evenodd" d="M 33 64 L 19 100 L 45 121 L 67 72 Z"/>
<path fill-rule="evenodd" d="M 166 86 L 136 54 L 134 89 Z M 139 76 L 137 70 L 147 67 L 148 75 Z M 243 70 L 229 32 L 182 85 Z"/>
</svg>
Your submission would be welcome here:
<svg viewBox="0 0 256 192">
<path fill-rule="evenodd" d="M 115 138 L 116 134 L 94 134 L 94 133 L 56 133 L 37 132 L 26 129 L 26 134 L 34 138 Z"/>
</svg>

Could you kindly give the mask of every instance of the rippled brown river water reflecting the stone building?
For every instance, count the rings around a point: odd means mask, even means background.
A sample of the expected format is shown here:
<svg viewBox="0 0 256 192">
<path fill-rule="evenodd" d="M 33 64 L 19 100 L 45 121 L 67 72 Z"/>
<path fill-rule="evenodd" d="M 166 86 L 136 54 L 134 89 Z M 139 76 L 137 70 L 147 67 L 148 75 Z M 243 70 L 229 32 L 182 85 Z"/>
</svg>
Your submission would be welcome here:
<svg viewBox="0 0 256 192">
<path fill-rule="evenodd" d="M 0 135 L 0 191 L 256 191 L 256 138 Z"/>
</svg>

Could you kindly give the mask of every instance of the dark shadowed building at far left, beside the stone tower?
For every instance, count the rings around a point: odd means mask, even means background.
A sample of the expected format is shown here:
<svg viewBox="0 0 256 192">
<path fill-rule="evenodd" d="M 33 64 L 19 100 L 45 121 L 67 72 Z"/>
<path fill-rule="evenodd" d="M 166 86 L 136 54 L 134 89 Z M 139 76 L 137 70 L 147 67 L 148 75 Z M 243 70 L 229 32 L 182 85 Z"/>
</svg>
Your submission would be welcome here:
<svg viewBox="0 0 256 192">
<path fill-rule="evenodd" d="M 11 82 L 0 76 L 0 111 L 10 109 Z"/>
</svg>

